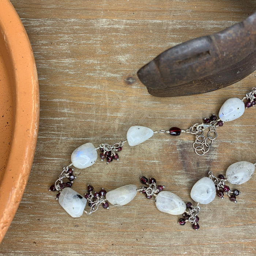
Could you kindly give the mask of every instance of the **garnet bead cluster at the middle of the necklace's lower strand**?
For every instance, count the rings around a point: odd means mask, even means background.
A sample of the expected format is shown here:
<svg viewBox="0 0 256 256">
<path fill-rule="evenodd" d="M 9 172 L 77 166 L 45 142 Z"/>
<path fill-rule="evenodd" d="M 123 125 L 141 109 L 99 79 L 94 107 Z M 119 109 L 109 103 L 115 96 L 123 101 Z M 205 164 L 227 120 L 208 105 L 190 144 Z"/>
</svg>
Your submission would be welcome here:
<svg viewBox="0 0 256 256">
<path fill-rule="evenodd" d="M 147 199 L 151 199 L 153 196 L 157 196 L 157 194 L 165 188 L 165 186 L 157 185 L 155 178 L 148 179 L 145 176 L 142 176 L 140 177 L 140 182 L 143 185 L 140 186 L 138 191 L 140 193 L 144 193 Z M 147 187 L 145 185 L 147 185 Z"/>
</svg>

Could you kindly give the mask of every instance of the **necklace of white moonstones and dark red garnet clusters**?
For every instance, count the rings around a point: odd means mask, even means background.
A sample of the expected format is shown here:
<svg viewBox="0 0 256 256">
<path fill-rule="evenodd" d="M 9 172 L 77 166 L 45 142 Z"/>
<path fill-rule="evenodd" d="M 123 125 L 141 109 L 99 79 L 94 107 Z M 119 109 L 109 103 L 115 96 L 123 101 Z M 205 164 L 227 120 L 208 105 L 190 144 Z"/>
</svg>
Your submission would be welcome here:
<svg viewBox="0 0 256 256">
<path fill-rule="evenodd" d="M 244 103 L 244 100 L 246 102 Z M 140 177 L 142 185 L 137 188 L 135 185 L 129 184 L 123 187 L 116 188 L 112 191 L 106 192 L 101 189 L 99 192 L 94 191 L 93 186 L 88 185 L 88 193 L 83 197 L 73 189 L 72 183 L 75 180 L 73 174 L 76 167 L 83 169 L 93 165 L 97 159 L 97 151 L 100 151 L 101 161 L 106 158 L 107 163 L 113 159 L 119 160 L 118 153 L 123 149 L 125 142 L 130 146 L 136 146 L 147 139 L 151 138 L 155 133 L 169 133 L 173 136 L 178 136 L 183 133 L 194 134 L 196 139 L 193 143 L 193 149 L 197 155 L 204 155 L 210 149 L 213 141 L 217 138 L 216 128 L 221 127 L 224 122 L 232 121 L 242 116 L 245 108 L 250 108 L 256 105 L 256 88 L 253 88 L 245 97 L 227 99 L 219 110 L 219 118 L 214 114 L 210 118 L 204 118 L 202 124 L 195 124 L 187 130 L 172 127 L 169 130 L 153 131 L 150 128 L 142 126 L 132 126 L 127 131 L 127 140 L 120 141 L 113 145 L 102 143 L 95 148 L 92 143 L 85 143 L 76 148 L 71 155 L 71 164 L 65 166 L 55 184 L 50 187 L 50 191 L 58 191 L 56 199 L 59 200 L 60 205 L 68 212 L 71 217 L 80 217 L 83 212 L 87 215 L 95 212 L 99 205 L 103 208 L 109 209 L 109 203 L 117 206 L 123 206 L 136 196 L 137 192 L 144 193 L 148 199 L 155 197 L 155 204 L 158 210 L 172 215 L 183 215 L 178 223 L 184 225 L 186 222 L 192 224 L 193 229 L 199 229 L 200 211 L 199 204 L 208 204 L 214 200 L 215 196 L 222 199 L 224 194 L 233 202 L 236 201 L 236 196 L 240 194 L 237 189 L 230 190 L 229 186 L 225 184 L 229 181 L 231 184 L 243 184 L 248 181 L 255 172 L 256 163 L 240 161 L 233 163 L 226 170 L 226 176 L 220 174 L 215 177 L 212 172 L 208 172 L 208 177 L 203 177 L 198 180 L 191 189 L 191 198 L 196 202 L 195 205 L 188 202 L 185 203 L 180 197 L 172 192 L 163 191 L 163 185 L 157 185 L 154 178 Z M 207 136 L 204 136 L 204 130 L 208 128 Z M 64 182 L 68 179 L 68 182 Z M 86 202 L 90 207 L 89 211 L 84 210 Z M 108 203 L 109 202 L 109 203 Z"/>
</svg>

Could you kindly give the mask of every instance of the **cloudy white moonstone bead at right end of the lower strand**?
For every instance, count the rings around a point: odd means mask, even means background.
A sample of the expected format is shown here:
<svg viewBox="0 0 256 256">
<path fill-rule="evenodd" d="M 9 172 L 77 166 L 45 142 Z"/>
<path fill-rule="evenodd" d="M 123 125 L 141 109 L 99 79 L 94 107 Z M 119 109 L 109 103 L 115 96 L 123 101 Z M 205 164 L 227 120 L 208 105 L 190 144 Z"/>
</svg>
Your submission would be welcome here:
<svg viewBox="0 0 256 256">
<path fill-rule="evenodd" d="M 226 171 L 226 178 L 231 184 L 243 184 L 248 181 L 255 171 L 255 165 L 241 161 L 230 165 Z"/>
</svg>

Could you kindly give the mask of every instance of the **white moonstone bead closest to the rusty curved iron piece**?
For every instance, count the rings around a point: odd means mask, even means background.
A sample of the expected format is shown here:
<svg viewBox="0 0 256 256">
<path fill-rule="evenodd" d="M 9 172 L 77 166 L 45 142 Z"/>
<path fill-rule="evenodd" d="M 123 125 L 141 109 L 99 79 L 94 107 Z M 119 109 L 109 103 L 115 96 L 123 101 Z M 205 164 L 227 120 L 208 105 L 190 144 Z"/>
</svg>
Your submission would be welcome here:
<svg viewBox="0 0 256 256">
<path fill-rule="evenodd" d="M 244 114 L 244 102 L 239 98 L 227 99 L 219 110 L 219 118 L 224 121 L 233 121 Z"/>
</svg>

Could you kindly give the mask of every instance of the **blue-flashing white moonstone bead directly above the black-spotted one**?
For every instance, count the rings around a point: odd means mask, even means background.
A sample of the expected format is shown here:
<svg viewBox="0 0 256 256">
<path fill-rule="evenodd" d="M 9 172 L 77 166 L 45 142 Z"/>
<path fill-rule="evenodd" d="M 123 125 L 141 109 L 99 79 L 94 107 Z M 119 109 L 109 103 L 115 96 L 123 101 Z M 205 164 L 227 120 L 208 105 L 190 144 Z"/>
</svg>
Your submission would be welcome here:
<svg viewBox="0 0 256 256">
<path fill-rule="evenodd" d="M 79 169 L 89 167 L 95 163 L 97 151 L 91 143 L 85 143 L 76 148 L 71 155 L 72 164 Z"/>
</svg>

